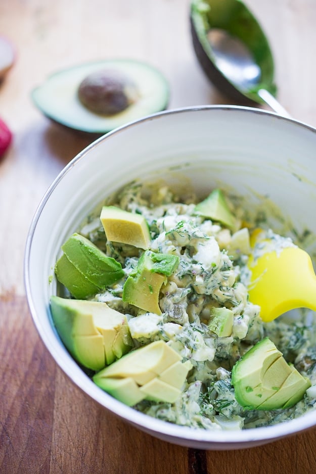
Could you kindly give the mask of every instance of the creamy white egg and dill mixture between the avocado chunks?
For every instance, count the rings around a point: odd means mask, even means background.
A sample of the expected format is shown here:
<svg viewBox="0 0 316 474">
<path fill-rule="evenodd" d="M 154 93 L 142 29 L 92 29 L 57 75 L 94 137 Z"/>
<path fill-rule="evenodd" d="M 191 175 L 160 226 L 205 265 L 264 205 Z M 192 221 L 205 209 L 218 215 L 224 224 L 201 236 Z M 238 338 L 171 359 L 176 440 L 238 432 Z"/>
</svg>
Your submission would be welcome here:
<svg viewBox="0 0 316 474">
<path fill-rule="evenodd" d="M 146 197 L 144 197 L 146 196 Z M 316 384 L 316 341 L 312 328 L 303 319 L 286 323 L 278 318 L 263 323 L 260 308 L 248 301 L 247 228 L 230 229 L 194 215 L 195 198 L 176 202 L 166 186 L 143 193 L 139 185 L 123 189 L 111 204 L 138 212 L 146 218 L 152 236 L 151 250 L 177 255 L 175 272 L 168 277 L 160 294 L 162 315 L 146 313 L 122 302 L 124 280 L 96 296 L 109 306 L 124 312 L 135 347 L 156 340 L 166 341 L 193 369 L 182 397 L 174 404 L 140 402 L 136 409 L 172 423 L 207 430 L 236 430 L 275 424 L 316 408 L 316 389 L 307 390 L 302 401 L 286 410 L 244 410 L 236 401 L 231 385 L 235 362 L 256 342 L 268 336 L 277 344 L 288 362 Z M 238 212 L 237 212 L 238 211 Z M 236 210 L 239 215 L 242 210 Z M 107 255 L 123 265 L 125 277 L 137 266 L 140 252 L 120 244 L 102 243 L 100 221 L 94 216 L 80 230 L 89 239 L 104 246 Z M 238 233 L 239 232 L 239 233 Z M 289 238 L 267 230 L 268 250 L 293 246 Z M 105 239 L 105 238 L 103 238 Z M 266 251 L 257 245 L 254 257 Z M 232 335 L 220 338 L 208 329 L 212 307 L 233 311 Z"/>
</svg>

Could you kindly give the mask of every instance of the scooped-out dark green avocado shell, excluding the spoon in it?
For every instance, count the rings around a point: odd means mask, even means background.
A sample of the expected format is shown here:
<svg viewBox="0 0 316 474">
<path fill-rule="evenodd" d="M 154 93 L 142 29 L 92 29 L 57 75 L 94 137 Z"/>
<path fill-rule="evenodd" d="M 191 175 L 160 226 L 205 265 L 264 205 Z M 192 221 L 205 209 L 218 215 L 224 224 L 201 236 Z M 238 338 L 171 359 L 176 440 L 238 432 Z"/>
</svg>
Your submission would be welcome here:
<svg viewBox="0 0 316 474">
<path fill-rule="evenodd" d="M 190 10 L 193 48 L 206 76 L 218 90 L 244 104 L 262 104 L 259 89 L 276 96 L 274 60 L 267 38 L 258 21 L 240 0 L 193 0 Z M 216 65 L 208 35 L 212 29 L 223 31 L 244 44 L 260 69 L 260 78 L 251 88 L 232 82 Z"/>
</svg>

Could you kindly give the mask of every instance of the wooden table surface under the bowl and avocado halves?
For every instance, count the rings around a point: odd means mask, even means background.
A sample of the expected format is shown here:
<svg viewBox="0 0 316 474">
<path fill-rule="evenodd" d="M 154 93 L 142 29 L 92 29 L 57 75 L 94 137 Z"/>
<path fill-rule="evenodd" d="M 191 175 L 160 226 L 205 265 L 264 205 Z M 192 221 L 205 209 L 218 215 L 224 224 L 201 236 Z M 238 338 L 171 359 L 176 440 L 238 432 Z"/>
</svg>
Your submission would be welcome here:
<svg viewBox="0 0 316 474">
<path fill-rule="evenodd" d="M 249 0 L 275 55 L 279 101 L 316 126 L 314 0 Z M 17 61 L 0 88 L 14 142 L 0 163 L 0 472 L 304 473 L 316 471 L 316 430 L 258 448 L 198 451 L 132 428 L 70 383 L 41 343 L 23 283 L 24 245 L 47 187 L 89 140 L 52 125 L 30 91 L 85 60 L 145 60 L 166 75 L 170 108 L 229 103 L 195 58 L 189 0 L 2 0 L 0 33 Z"/>
</svg>

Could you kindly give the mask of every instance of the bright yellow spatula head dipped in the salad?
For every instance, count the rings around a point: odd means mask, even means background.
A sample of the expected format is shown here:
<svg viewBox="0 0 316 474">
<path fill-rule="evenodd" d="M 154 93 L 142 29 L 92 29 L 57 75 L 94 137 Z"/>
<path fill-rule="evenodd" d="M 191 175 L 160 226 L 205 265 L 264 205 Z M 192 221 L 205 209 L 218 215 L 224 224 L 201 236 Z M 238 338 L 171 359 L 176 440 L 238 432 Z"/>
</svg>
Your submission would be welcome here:
<svg viewBox="0 0 316 474">
<path fill-rule="evenodd" d="M 255 231 L 252 245 L 260 241 Z M 310 256 L 299 247 L 285 247 L 280 251 L 264 249 L 258 258 L 251 256 L 249 300 L 261 307 L 263 321 L 272 321 L 286 311 L 309 308 L 316 311 L 316 275 Z"/>
</svg>

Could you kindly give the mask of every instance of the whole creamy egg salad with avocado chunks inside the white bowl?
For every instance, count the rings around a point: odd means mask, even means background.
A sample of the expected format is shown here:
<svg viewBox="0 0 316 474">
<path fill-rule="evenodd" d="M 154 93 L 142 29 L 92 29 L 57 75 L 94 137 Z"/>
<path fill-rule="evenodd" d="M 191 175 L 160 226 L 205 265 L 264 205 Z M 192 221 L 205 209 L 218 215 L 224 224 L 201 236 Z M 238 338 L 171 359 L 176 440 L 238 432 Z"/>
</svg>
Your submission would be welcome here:
<svg viewBox="0 0 316 474">
<path fill-rule="evenodd" d="M 170 423 L 242 430 L 315 409 L 313 313 L 264 322 L 249 301 L 259 223 L 270 248 L 295 245 L 220 189 L 125 186 L 62 246 L 63 343 L 101 389 Z"/>
</svg>

